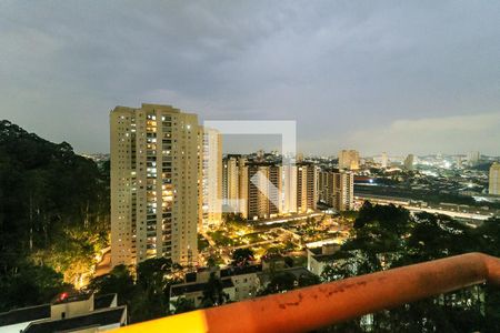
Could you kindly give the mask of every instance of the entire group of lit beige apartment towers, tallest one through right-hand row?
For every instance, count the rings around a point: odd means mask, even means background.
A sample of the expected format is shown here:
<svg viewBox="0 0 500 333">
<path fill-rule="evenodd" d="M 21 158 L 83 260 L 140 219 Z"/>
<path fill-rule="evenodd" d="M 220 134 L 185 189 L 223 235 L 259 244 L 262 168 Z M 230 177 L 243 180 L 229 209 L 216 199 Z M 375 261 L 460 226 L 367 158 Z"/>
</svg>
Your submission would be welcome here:
<svg viewBox="0 0 500 333">
<path fill-rule="evenodd" d="M 117 107 L 111 129 L 111 262 L 164 256 L 193 266 L 198 231 L 218 226 L 222 212 L 247 220 L 313 212 L 318 200 L 350 210 L 359 152 L 339 154 L 342 171 L 278 153 L 222 158 L 217 129 L 169 105 Z M 343 171 L 346 170 L 346 171 Z"/>
</svg>

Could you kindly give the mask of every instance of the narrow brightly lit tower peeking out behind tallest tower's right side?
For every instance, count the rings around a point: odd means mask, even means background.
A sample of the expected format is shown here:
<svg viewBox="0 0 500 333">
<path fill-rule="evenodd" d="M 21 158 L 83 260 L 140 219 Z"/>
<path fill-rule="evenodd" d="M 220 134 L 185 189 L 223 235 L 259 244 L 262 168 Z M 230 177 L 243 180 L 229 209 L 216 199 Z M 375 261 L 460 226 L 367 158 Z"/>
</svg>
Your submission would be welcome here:
<svg viewBox="0 0 500 333">
<path fill-rule="evenodd" d="M 222 138 L 199 127 L 199 229 L 222 222 Z"/>
</svg>

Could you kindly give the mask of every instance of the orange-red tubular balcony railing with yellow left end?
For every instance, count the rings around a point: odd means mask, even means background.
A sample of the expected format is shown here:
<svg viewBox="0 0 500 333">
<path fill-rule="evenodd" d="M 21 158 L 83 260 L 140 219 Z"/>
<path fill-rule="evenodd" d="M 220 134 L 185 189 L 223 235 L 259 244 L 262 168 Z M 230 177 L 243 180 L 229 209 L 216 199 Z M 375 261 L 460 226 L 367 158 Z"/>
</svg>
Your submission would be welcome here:
<svg viewBox="0 0 500 333">
<path fill-rule="evenodd" d="M 127 332 L 307 332 L 473 284 L 500 285 L 500 260 L 468 253 L 120 329 Z"/>
</svg>

